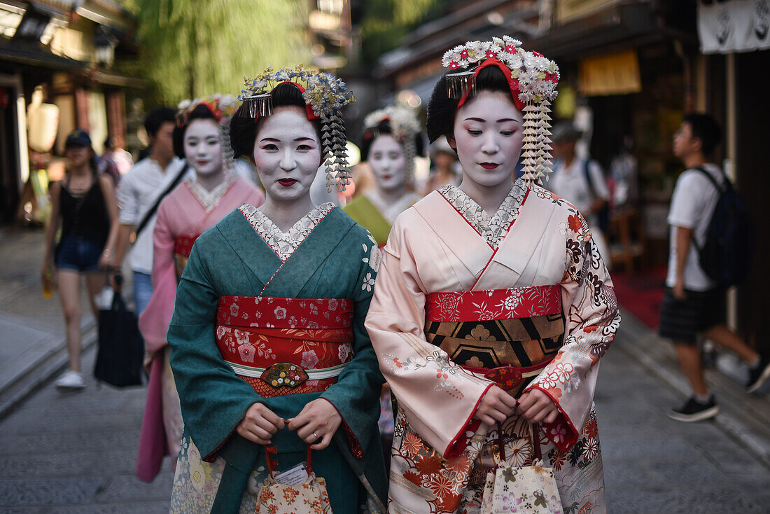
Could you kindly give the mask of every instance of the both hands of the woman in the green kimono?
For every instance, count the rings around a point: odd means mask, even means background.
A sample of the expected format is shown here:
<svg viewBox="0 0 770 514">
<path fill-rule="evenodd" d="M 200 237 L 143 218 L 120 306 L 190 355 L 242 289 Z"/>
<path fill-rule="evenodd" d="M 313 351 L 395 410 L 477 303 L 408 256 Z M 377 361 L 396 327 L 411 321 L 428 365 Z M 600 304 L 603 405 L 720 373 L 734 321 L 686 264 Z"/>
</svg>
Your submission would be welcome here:
<svg viewBox="0 0 770 514">
<path fill-rule="evenodd" d="M 330 444 L 341 422 L 340 413 L 324 398 L 310 401 L 300 414 L 287 420 L 265 405 L 255 403 L 246 410 L 246 415 L 236 427 L 236 432 L 258 445 L 269 445 L 270 438 L 286 426 L 289 430 L 296 431 L 297 437 L 311 445 L 310 448 L 323 450 Z"/>
</svg>

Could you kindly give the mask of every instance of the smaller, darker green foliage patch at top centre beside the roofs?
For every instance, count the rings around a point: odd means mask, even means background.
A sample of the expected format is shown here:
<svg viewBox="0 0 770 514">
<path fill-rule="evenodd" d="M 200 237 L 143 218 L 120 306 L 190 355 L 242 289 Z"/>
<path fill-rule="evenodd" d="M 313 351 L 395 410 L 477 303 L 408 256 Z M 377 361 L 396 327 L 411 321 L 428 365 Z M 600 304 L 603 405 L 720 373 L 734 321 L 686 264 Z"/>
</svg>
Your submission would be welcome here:
<svg viewBox="0 0 770 514">
<path fill-rule="evenodd" d="M 362 3 L 361 58 L 374 62 L 417 25 L 444 14 L 451 0 L 366 0 Z"/>
</svg>

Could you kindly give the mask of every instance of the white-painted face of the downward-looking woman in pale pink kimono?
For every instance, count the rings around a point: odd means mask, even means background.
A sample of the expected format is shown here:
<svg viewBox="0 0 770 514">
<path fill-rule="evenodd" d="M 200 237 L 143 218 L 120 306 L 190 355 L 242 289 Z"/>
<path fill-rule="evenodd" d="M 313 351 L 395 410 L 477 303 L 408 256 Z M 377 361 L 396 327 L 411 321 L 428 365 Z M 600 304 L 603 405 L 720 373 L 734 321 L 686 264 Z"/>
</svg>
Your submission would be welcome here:
<svg viewBox="0 0 770 514">
<path fill-rule="evenodd" d="M 454 141 L 463 180 L 479 186 L 511 186 L 524 139 L 522 116 L 510 95 L 482 91 L 457 109 Z"/>
</svg>

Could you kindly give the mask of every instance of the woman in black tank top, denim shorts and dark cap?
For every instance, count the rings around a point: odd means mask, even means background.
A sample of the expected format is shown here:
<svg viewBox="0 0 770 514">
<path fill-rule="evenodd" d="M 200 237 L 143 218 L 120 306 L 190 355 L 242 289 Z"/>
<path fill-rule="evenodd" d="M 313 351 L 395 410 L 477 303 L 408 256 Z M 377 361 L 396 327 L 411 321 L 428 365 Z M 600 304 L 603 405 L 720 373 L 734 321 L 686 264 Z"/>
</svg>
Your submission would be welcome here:
<svg viewBox="0 0 770 514">
<path fill-rule="evenodd" d="M 55 382 L 62 391 L 85 387 L 80 369 L 80 277 L 85 275 L 91 309 L 97 317 L 94 297 L 105 285 L 105 268 L 111 262 L 118 235 L 115 188 L 109 176 L 98 173 L 91 138 L 85 130 L 75 129 L 67 136 L 65 157 L 64 179 L 49 188 L 52 213 L 42 268 L 44 284 L 51 280 L 52 264 L 57 270 L 65 316 L 69 370 Z M 62 235 L 54 250 L 60 221 Z"/>
</svg>

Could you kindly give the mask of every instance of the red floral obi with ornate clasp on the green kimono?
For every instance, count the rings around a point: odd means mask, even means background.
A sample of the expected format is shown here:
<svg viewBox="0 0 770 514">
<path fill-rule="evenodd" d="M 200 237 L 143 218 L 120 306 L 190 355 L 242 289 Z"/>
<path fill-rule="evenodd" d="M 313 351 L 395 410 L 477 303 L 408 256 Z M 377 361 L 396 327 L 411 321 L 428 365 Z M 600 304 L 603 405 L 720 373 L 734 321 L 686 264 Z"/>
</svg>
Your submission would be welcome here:
<svg viewBox="0 0 770 514">
<path fill-rule="evenodd" d="M 219 297 L 216 344 L 263 398 L 326 391 L 353 358 L 353 302 Z"/>
</svg>

